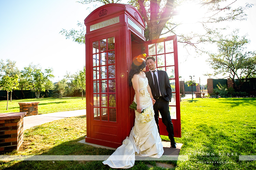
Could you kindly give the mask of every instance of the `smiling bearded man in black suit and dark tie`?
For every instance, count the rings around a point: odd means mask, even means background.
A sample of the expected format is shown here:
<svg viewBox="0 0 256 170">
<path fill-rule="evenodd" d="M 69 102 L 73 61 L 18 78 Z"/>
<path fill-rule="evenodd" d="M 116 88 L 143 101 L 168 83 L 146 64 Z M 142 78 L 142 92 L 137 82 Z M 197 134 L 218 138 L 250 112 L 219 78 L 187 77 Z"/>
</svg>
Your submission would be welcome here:
<svg viewBox="0 0 256 170">
<path fill-rule="evenodd" d="M 159 112 L 162 117 L 163 124 L 166 125 L 168 137 L 171 140 L 171 147 L 176 148 L 176 142 L 174 140 L 173 124 L 169 111 L 169 101 L 172 98 L 172 90 L 169 82 L 169 78 L 166 71 L 156 69 L 156 60 L 153 56 L 146 58 L 147 67 L 150 71 L 146 72 L 148 84 L 151 88 L 152 95 L 156 100 L 153 105 L 155 112 L 155 121 L 159 132 L 158 117 Z M 159 112 L 158 112 L 159 111 Z M 159 132 L 160 134 L 160 132 Z"/>
</svg>

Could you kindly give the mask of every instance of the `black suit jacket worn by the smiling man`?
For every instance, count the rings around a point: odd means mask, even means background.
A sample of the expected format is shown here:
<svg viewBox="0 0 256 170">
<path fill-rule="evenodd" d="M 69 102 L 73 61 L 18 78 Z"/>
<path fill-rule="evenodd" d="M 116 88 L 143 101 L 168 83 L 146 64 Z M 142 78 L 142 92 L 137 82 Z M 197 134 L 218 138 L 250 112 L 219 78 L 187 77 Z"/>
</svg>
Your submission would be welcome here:
<svg viewBox="0 0 256 170">
<path fill-rule="evenodd" d="M 150 85 L 152 95 L 155 98 L 155 87 L 154 87 L 154 80 L 152 78 L 152 74 L 150 71 L 147 71 L 145 74 L 148 79 L 148 84 Z M 159 89 L 162 97 L 165 98 L 166 101 L 171 101 L 172 89 L 171 89 L 167 72 L 163 70 L 157 70 L 157 74 L 158 74 Z"/>
</svg>

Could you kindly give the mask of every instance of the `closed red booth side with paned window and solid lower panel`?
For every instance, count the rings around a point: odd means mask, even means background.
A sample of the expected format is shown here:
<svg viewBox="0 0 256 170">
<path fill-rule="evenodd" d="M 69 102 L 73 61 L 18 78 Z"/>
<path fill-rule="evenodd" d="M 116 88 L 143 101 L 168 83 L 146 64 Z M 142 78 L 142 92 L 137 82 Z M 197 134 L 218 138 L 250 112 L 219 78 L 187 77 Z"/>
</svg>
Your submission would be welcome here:
<svg viewBox="0 0 256 170">
<path fill-rule="evenodd" d="M 90 137 L 120 142 L 117 116 L 116 49 L 118 31 L 90 38 Z M 86 61 L 87 62 L 87 61 Z"/>
</svg>

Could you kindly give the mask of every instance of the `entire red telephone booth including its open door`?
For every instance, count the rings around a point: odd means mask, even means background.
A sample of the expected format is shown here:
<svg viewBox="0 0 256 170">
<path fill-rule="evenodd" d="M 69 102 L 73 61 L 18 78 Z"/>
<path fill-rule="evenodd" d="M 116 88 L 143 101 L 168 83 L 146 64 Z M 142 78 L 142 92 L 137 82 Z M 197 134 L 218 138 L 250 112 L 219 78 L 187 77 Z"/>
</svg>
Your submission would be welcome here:
<svg viewBox="0 0 256 170">
<path fill-rule="evenodd" d="M 174 82 L 174 94 L 180 94 L 176 36 L 168 37 L 168 40 L 162 39 L 163 46 L 159 46 L 158 40 L 145 42 L 143 19 L 136 8 L 126 4 L 103 5 L 89 14 L 84 23 L 87 118 L 85 141 L 117 148 L 122 145 L 126 136 L 129 136 L 134 125 L 135 113 L 129 109 L 134 90 L 128 85 L 133 57 L 142 53 L 154 55 L 157 58 L 158 69 L 174 69 L 170 72 L 170 82 Z M 171 45 L 172 47 L 169 47 Z M 152 52 L 153 46 L 155 54 Z M 159 53 L 157 48 L 164 50 Z M 169 57 L 172 57 L 172 63 L 169 63 Z M 160 61 L 164 61 L 165 64 L 162 65 Z M 176 95 L 177 101 L 180 102 L 179 95 Z M 174 131 L 177 132 L 175 137 L 180 137 L 180 105 L 173 103 L 175 102 L 170 104 L 170 111 L 175 108 L 179 124 L 179 127 L 174 127 Z M 164 130 L 160 133 L 164 134 Z"/>
</svg>

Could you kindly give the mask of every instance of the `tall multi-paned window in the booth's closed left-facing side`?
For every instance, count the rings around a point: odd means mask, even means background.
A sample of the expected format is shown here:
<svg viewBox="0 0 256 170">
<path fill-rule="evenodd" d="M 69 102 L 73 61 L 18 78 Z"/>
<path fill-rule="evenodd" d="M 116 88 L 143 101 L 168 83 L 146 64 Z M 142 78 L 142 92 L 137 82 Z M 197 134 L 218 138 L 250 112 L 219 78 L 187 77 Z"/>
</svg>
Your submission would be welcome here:
<svg viewBox="0 0 256 170">
<path fill-rule="evenodd" d="M 116 122 L 115 37 L 93 42 L 94 120 Z"/>
</svg>

